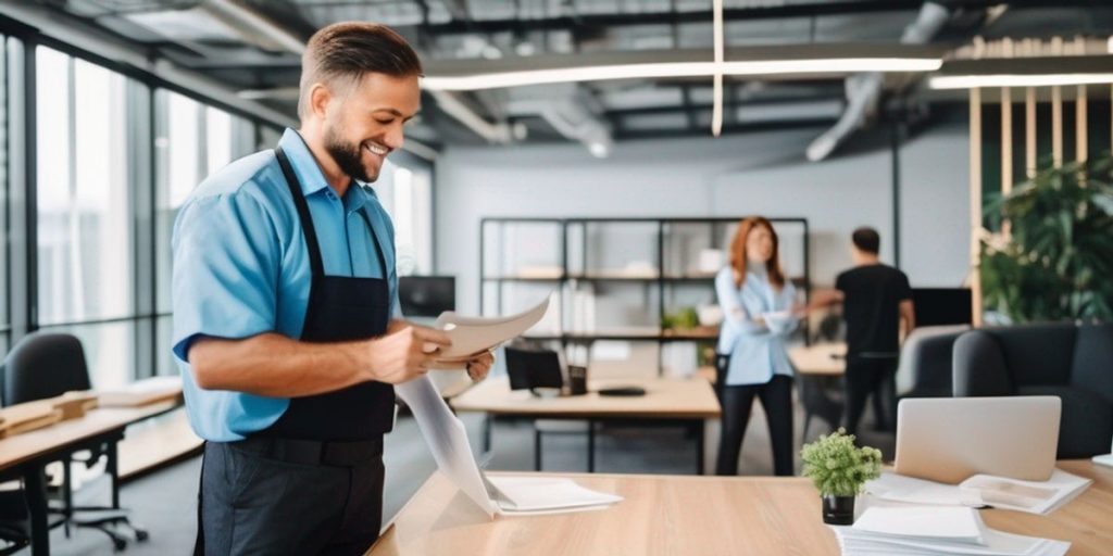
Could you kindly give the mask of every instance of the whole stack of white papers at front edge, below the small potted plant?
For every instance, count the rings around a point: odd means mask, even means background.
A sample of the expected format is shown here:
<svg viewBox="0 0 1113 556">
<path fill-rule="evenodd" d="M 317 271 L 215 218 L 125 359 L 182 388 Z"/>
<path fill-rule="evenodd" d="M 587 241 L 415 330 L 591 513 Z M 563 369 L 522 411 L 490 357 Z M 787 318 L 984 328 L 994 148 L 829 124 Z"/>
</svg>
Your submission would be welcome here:
<svg viewBox="0 0 1113 556">
<path fill-rule="evenodd" d="M 1071 547 L 991 529 L 963 507 L 870 507 L 853 526 L 831 529 L 846 556 L 1062 556 Z"/>
</svg>

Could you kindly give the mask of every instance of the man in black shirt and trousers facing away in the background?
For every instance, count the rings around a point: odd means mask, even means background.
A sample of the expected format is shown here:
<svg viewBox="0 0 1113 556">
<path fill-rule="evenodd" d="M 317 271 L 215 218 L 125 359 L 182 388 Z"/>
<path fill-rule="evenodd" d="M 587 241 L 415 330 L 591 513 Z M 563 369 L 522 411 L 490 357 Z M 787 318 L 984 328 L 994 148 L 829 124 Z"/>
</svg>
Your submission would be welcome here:
<svg viewBox="0 0 1113 556">
<path fill-rule="evenodd" d="M 879 428 L 896 423 L 896 369 L 900 321 L 905 334 L 916 326 L 908 277 L 877 258 L 880 236 L 873 228 L 853 235 L 855 267 L 838 276 L 835 291 L 817 296 L 816 305 L 843 304 L 846 321 L 846 429 L 857 434 L 866 398 L 874 395 Z M 881 395 L 884 393 L 884 403 Z M 885 411 L 883 406 L 888 406 Z"/>
</svg>

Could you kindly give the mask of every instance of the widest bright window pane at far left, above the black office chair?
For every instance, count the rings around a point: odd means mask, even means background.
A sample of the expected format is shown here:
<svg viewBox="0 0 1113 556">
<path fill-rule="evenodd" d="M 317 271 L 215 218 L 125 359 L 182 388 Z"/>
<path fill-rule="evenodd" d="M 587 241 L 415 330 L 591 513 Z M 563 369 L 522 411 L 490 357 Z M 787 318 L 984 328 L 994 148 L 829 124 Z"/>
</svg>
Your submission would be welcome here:
<svg viewBox="0 0 1113 556">
<path fill-rule="evenodd" d="M 38 322 L 85 325 L 135 312 L 128 79 L 65 53 L 36 50 Z M 78 110 L 77 107 L 81 109 Z M 88 324 L 95 386 L 134 376 L 134 339 Z"/>
</svg>

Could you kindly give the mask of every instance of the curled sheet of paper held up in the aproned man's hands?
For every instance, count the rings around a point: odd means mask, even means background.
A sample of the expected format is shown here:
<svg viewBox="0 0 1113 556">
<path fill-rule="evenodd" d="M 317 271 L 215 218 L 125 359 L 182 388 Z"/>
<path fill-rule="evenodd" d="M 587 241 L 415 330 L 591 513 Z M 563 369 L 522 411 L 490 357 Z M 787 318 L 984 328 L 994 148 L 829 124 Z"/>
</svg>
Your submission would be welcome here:
<svg viewBox="0 0 1113 556">
<path fill-rule="evenodd" d="M 551 295 L 546 295 L 536 306 L 509 317 L 464 317 L 455 311 L 442 312 L 433 327 L 444 330 L 452 339 L 452 346 L 439 354 L 436 360 L 441 363 L 466 360 L 521 336 L 545 316 L 551 298 Z M 432 349 L 435 346 L 427 347 Z"/>
</svg>

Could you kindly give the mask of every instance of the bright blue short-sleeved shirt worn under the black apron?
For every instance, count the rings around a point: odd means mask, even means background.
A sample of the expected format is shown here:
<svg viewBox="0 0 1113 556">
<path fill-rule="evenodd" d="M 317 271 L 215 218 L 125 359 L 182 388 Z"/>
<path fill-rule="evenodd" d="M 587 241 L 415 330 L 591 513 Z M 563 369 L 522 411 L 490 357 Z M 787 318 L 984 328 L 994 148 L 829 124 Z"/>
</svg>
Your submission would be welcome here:
<svg viewBox="0 0 1113 556">
<path fill-rule="evenodd" d="M 353 182 L 338 197 L 296 131 L 287 129 L 279 145 L 313 215 L 325 274 L 385 277 L 397 315 L 394 228 L 375 193 Z M 289 399 L 204 390 L 187 356 L 199 336 L 302 335 L 312 272 L 297 209 L 275 152 L 249 155 L 201 182 L 178 214 L 173 248 L 174 355 L 189 423 L 207 440 L 243 439 L 278 420 Z"/>
</svg>

